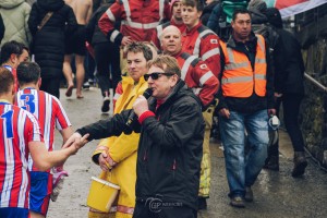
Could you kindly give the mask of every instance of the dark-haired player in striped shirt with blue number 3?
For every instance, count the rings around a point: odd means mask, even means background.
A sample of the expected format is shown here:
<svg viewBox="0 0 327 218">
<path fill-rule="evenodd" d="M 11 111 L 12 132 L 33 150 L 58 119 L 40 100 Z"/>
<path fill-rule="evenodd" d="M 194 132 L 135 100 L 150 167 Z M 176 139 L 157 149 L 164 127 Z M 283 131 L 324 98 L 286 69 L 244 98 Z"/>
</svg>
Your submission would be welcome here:
<svg viewBox="0 0 327 218">
<path fill-rule="evenodd" d="M 41 78 L 40 68 L 35 62 L 22 62 L 17 68 L 20 90 L 15 97 L 15 105 L 28 110 L 37 119 L 41 126 L 45 144 L 49 152 L 55 150 L 55 129 L 59 130 L 63 143 L 72 135 L 73 130 L 61 102 L 55 96 L 39 90 Z M 52 174 L 50 170 L 43 172 L 33 159 L 28 159 L 31 171 L 29 210 L 32 217 L 46 217 L 50 195 L 52 193 Z M 56 168 L 58 173 L 68 173 L 62 167 Z M 58 185 L 58 181 L 56 183 Z"/>
</svg>

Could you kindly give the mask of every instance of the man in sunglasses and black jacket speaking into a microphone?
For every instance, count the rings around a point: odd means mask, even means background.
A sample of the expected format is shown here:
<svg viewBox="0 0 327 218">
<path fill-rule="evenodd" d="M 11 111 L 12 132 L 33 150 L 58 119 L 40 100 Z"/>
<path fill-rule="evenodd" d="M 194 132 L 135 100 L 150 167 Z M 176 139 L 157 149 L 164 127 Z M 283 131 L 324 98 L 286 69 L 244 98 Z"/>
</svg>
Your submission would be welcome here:
<svg viewBox="0 0 327 218">
<path fill-rule="evenodd" d="M 159 56 L 148 68 L 144 76 L 153 90 L 148 100 L 140 96 L 133 110 L 78 129 L 65 146 L 84 133 L 95 140 L 129 132 L 125 123 L 134 111 L 138 119 L 131 129 L 141 137 L 133 217 L 196 217 L 205 128 L 201 102 L 180 78 L 174 58 Z"/>
</svg>

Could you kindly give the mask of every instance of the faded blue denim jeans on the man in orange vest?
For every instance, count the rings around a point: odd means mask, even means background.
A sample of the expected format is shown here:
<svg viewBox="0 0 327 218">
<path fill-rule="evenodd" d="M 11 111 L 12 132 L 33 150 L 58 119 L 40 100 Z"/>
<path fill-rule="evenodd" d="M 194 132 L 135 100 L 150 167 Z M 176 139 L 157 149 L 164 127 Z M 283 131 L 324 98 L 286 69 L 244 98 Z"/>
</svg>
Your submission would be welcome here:
<svg viewBox="0 0 327 218">
<path fill-rule="evenodd" d="M 252 186 L 259 174 L 268 146 L 268 113 L 230 111 L 230 118 L 219 120 L 226 161 L 229 196 L 245 195 L 245 186 Z M 247 133 L 245 154 L 245 130 Z"/>
</svg>

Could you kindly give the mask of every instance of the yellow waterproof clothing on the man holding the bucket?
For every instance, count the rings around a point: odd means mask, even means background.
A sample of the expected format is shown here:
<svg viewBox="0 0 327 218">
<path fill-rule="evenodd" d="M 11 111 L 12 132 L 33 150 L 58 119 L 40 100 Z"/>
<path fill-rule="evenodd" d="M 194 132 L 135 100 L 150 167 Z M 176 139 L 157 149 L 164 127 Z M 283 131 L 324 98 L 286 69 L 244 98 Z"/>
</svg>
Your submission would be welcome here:
<svg viewBox="0 0 327 218">
<path fill-rule="evenodd" d="M 134 85 L 134 81 L 130 76 L 123 76 L 122 95 L 116 102 L 113 113 L 120 113 L 122 110 L 131 109 L 134 100 L 148 88 L 147 83 L 142 76 L 138 84 Z M 121 134 L 102 140 L 94 153 L 98 155 L 107 150 L 108 155 L 116 162 L 111 172 L 102 171 L 100 179 L 118 184 L 121 190 L 118 195 L 118 205 L 112 207 L 117 209 L 116 217 L 131 218 L 135 206 L 135 182 L 136 182 L 136 157 L 140 134 L 132 132 L 130 135 Z M 92 191 L 92 190 L 90 190 Z M 88 217 L 109 217 L 109 214 L 96 213 L 90 209 Z M 112 215 L 110 216 L 112 217 Z"/>
</svg>

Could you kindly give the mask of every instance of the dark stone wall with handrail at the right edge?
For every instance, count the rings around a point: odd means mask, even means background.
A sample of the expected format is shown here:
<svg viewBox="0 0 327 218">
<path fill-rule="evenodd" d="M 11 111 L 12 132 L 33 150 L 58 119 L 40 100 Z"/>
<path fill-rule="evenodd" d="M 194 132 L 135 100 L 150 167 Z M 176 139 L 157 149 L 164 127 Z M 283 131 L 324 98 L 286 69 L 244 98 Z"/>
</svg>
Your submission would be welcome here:
<svg viewBox="0 0 327 218">
<path fill-rule="evenodd" d="M 326 23 L 324 23 L 326 24 Z M 299 39 L 304 46 L 303 58 L 306 73 L 327 86 L 327 40 L 320 33 L 314 31 L 319 22 L 302 28 L 298 33 Z M 312 33 L 314 41 L 304 41 L 301 33 Z M 301 37 L 302 36 L 302 37 Z M 306 38 L 307 39 L 307 38 Z M 308 152 L 327 168 L 327 93 L 310 80 L 305 78 L 305 99 L 301 106 L 301 126 Z"/>
</svg>

